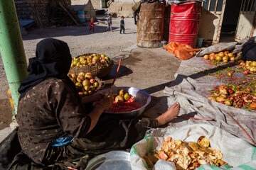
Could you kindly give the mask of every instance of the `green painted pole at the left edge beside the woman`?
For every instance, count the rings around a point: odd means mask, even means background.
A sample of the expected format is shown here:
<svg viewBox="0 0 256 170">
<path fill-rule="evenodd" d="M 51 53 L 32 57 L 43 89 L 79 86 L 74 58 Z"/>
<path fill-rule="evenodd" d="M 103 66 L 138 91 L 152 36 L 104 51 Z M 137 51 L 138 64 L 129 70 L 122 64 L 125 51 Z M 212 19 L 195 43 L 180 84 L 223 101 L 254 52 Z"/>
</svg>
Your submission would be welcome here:
<svg viewBox="0 0 256 170">
<path fill-rule="evenodd" d="M 0 52 L 17 113 L 18 87 L 28 72 L 14 0 L 0 0 Z"/>
</svg>

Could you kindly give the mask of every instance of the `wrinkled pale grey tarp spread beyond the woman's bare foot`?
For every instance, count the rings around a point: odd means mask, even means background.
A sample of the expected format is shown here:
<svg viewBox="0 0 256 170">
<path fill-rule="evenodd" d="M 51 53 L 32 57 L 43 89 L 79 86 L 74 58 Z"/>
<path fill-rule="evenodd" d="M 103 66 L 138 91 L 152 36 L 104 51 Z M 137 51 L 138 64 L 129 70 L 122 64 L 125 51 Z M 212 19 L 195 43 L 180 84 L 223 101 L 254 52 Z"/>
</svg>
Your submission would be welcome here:
<svg viewBox="0 0 256 170">
<path fill-rule="evenodd" d="M 256 140 L 256 113 L 226 106 L 206 98 L 209 95 L 208 90 L 223 84 L 215 77 L 206 76 L 206 70 L 215 71 L 210 67 L 215 66 L 209 66 L 201 60 L 201 57 L 193 57 L 190 60 L 182 61 L 176 72 L 176 79 L 171 81 L 169 86 L 164 89 L 168 96 L 161 98 L 161 101 L 151 108 L 147 114 L 158 116 L 159 113 L 164 113 L 168 107 L 178 102 L 181 104 L 181 111 L 178 115 L 207 119 L 215 118 L 215 121 L 176 118 L 171 121 L 169 126 L 182 127 L 183 125 L 208 123 L 253 144 L 228 113 L 233 115 L 235 120 L 238 120 L 253 140 Z"/>
</svg>

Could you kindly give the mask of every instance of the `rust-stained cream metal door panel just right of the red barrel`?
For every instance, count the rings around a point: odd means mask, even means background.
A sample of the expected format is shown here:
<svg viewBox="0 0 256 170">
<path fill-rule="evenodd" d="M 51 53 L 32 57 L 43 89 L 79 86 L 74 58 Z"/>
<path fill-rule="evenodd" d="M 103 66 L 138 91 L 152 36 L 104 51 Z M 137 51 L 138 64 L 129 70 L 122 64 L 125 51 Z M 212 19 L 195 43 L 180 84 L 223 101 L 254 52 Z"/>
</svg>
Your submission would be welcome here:
<svg viewBox="0 0 256 170">
<path fill-rule="evenodd" d="M 202 37 L 206 42 L 219 42 L 225 4 L 226 0 L 206 0 L 203 2 L 198 37 Z"/>
</svg>

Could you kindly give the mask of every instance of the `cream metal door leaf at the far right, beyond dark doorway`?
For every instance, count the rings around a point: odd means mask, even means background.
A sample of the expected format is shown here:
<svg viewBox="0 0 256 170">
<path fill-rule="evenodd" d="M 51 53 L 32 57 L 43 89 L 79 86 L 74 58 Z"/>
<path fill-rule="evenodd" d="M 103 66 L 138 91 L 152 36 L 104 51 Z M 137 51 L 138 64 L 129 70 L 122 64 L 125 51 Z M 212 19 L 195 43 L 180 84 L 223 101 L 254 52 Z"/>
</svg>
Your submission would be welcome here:
<svg viewBox="0 0 256 170">
<path fill-rule="evenodd" d="M 247 36 L 252 35 L 252 26 L 255 18 L 255 0 L 242 0 L 240 14 L 238 19 L 238 26 L 235 31 L 235 40 L 240 41 Z"/>
</svg>

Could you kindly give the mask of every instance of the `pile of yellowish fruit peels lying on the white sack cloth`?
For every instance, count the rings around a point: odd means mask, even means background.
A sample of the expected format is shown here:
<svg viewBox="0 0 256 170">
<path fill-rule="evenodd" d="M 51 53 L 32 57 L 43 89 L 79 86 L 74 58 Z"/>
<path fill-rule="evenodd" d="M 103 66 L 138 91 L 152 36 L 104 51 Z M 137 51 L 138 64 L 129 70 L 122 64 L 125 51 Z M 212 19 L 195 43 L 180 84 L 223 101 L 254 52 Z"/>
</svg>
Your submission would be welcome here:
<svg viewBox="0 0 256 170">
<path fill-rule="evenodd" d="M 207 137 L 199 137 L 198 142 L 184 142 L 168 137 L 163 142 L 163 147 L 154 155 L 158 159 L 174 162 L 178 170 L 191 170 L 203 164 L 215 166 L 228 165 L 222 160 L 223 154 L 218 149 L 210 147 Z M 149 157 L 144 157 L 147 164 L 152 164 Z"/>
</svg>

